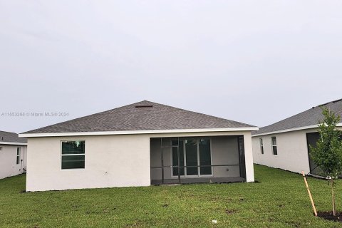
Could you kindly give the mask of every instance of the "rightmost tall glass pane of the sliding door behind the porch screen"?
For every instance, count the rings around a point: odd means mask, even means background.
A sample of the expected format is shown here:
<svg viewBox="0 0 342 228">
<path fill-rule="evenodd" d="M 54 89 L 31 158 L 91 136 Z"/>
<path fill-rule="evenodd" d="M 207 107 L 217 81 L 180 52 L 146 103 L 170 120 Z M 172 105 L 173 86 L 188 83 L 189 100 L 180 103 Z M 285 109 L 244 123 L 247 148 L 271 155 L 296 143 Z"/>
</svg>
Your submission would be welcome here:
<svg viewBox="0 0 342 228">
<path fill-rule="evenodd" d="M 212 175 L 212 167 L 202 165 L 212 165 L 210 140 L 199 140 L 199 172 L 201 175 Z"/>
</svg>

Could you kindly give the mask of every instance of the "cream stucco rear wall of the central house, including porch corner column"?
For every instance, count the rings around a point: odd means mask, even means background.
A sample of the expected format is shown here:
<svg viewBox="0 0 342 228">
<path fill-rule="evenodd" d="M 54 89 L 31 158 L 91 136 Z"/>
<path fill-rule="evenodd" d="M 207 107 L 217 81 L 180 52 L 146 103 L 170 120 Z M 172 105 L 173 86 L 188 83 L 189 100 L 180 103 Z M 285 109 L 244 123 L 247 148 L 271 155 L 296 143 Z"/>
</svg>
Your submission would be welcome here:
<svg viewBox="0 0 342 228">
<path fill-rule="evenodd" d="M 28 138 L 26 191 L 150 185 L 150 138 L 244 135 L 247 182 L 254 181 L 250 132 Z M 61 140 L 86 140 L 83 170 L 61 170 Z"/>
</svg>

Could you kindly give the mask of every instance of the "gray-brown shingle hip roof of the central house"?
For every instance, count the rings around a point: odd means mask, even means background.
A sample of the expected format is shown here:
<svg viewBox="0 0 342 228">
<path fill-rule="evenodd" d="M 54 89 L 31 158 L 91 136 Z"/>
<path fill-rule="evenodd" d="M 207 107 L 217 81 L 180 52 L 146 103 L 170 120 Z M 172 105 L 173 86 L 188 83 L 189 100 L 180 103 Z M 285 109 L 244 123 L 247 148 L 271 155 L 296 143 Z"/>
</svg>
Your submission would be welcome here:
<svg viewBox="0 0 342 228">
<path fill-rule="evenodd" d="M 136 108 L 137 105 L 152 105 L 152 107 Z M 125 130 L 249 127 L 254 126 L 143 100 L 102 113 L 30 130 L 26 133 L 81 133 Z"/>
</svg>

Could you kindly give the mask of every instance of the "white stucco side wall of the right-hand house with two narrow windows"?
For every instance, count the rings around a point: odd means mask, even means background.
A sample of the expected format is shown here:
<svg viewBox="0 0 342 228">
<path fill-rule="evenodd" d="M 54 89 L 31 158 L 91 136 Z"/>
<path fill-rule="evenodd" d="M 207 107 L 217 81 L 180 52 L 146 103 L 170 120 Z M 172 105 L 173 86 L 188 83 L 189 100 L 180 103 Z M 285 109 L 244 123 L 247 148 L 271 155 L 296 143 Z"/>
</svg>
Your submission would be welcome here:
<svg viewBox="0 0 342 228">
<path fill-rule="evenodd" d="M 342 128 L 339 128 L 342 130 Z M 306 133 L 317 129 L 296 130 L 287 133 L 260 135 L 252 138 L 254 162 L 260 165 L 276 167 L 291 172 L 310 172 Z M 278 155 L 273 155 L 271 137 L 276 137 Z M 264 141 L 264 155 L 261 155 L 259 139 Z"/>
</svg>

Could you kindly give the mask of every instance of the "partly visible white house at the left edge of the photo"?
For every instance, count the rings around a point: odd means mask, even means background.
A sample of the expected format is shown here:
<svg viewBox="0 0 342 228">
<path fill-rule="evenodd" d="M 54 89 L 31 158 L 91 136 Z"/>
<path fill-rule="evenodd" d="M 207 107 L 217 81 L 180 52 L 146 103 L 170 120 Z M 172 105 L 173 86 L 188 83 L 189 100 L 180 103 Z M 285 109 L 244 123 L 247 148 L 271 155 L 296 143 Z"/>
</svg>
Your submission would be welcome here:
<svg viewBox="0 0 342 228">
<path fill-rule="evenodd" d="M 0 131 L 0 179 L 26 172 L 26 138 Z"/>
</svg>

